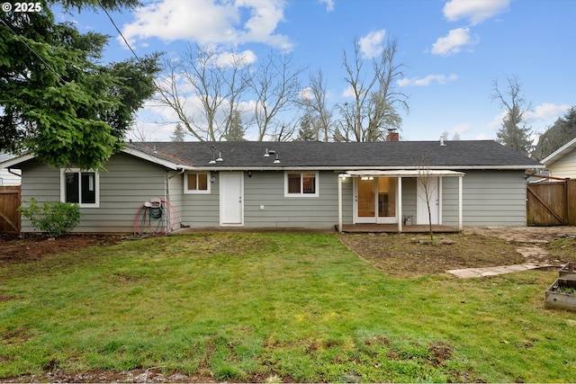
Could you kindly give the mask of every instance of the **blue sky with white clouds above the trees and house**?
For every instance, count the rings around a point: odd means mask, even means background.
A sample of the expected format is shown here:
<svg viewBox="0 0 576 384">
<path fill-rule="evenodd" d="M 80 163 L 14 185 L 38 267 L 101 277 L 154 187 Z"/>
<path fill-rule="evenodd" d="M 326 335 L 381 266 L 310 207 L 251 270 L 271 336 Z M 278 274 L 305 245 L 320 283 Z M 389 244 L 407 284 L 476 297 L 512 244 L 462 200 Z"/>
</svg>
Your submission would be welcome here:
<svg viewBox="0 0 576 384">
<path fill-rule="evenodd" d="M 329 104 L 346 98 L 342 53 L 353 40 L 376 45 L 398 40 L 405 64 L 398 90 L 409 95 L 401 111 L 401 138 L 430 140 L 449 132 L 461 139 L 492 139 L 502 108 L 491 99 L 495 80 L 506 91 L 518 76 L 531 111 L 527 123 L 543 132 L 576 105 L 576 1 L 574 0 L 156 0 L 134 12 L 112 13 L 138 55 L 175 56 L 188 43 L 222 52 L 249 52 L 254 60 L 286 49 L 298 65 L 321 68 Z M 112 39 L 105 59 L 131 52 L 105 13 L 58 14 L 80 31 Z M 365 54 L 371 45 L 366 44 Z M 368 65 L 369 61 L 366 62 Z M 305 86 L 307 76 L 302 79 Z M 148 103 L 139 112 L 140 135 L 169 140 L 171 112 Z M 247 138 L 250 138 L 248 132 Z"/>
</svg>

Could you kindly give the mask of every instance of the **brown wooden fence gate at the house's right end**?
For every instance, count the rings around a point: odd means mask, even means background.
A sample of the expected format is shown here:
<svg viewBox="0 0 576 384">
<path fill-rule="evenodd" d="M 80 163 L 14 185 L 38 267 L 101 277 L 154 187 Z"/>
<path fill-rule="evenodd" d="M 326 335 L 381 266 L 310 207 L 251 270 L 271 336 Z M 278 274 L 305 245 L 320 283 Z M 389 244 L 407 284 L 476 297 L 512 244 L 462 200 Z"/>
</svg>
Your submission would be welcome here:
<svg viewBox="0 0 576 384">
<path fill-rule="evenodd" d="M 528 226 L 576 226 L 576 180 L 527 185 Z"/>
</svg>

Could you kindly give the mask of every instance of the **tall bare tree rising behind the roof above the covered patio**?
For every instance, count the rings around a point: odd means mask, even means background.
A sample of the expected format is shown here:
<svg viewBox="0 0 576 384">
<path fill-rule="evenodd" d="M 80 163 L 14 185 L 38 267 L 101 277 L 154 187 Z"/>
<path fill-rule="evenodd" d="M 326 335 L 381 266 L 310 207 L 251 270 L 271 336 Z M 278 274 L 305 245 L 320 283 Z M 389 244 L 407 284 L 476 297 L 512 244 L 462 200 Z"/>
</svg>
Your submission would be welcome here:
<svg viewBox="0 0 576 384">
<path fill-rule="evenodd" d="M 397 92 L 394 88 L 396 80 L 400 79 L 403 63 L 396 63 L 397 41 L 388 39 L 382 53 L 372 60 L 372 68 L 366 69 L 361 57 L 361 47 L 354 40 L 354 52 L 348 57 L 343 54 L 345 78 L 352 103 L 338 105 L 341 120 L 335 139 L 351 141 L 379 141 L 386 136 L 388 129 L 399 129 L 401 116 L 398 108 L 408 111 L 408 96 Z"/>
</svg>

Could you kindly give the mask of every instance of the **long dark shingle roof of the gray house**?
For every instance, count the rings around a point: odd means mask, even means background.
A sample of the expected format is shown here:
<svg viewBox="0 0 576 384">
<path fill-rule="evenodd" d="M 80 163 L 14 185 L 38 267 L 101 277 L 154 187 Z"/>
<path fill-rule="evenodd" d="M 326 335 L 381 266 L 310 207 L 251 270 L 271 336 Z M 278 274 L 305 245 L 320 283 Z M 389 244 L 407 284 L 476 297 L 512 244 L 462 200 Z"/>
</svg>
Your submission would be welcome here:
<svg viewBox="0 0 576 384">
<path fill-rule="evenodd" d="M 150 155 L 205 169 L 266 169 L 266 168 L 513 168 L 542 167 L 527 156 L 492 140 L 392 141 L 378 143 L 324 143 L 318 141 L 220 141 L 220 142 L 146 142 L 129 143 L 129 147 Z M 210 165 L 212 149 L 221 153 L 223 161 Z M 275 151 L 280 164 L 275 164 Z M 154 150 L 156 149 L 156 153 Z"/>
</svg>

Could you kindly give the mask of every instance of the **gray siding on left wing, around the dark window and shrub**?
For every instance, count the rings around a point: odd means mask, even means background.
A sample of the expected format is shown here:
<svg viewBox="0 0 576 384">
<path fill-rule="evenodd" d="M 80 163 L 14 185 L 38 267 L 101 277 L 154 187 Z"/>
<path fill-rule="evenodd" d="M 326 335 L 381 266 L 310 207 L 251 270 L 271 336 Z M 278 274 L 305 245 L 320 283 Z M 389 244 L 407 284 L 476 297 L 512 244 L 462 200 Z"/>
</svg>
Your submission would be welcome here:
<svg viewBox="0 0 576 384">
<path fill-rule="evenodd" d="M 58 169 L 31 161 L 23 165 L 22 200 L 59 201 Z M 118 154 L 100 173 L 100 207 L 82 208 L 82 219 L 75 232 L 124 232 L 133 230 L 139 207 L 152 198 L 166 200 L 164 168 L 135 157 Z M 32 232 L 30 222 L 23 219 L 23 232 Z"/>
</svg>

